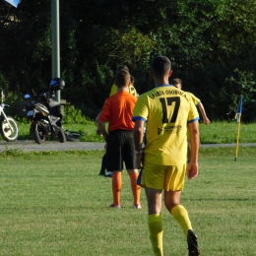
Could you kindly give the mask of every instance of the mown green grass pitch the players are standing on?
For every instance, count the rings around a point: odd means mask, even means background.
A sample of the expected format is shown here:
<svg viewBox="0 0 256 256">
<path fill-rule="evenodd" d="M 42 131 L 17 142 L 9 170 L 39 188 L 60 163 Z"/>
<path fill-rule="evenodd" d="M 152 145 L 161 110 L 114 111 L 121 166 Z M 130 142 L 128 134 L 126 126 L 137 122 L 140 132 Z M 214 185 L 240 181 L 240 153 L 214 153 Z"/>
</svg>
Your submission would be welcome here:
<svg viewBox="0 0 256 256">
<path fill-rule="evenodd" d="M 252 256 L 255 243 L 255 147 L 200 149 L 199 176 L 182 204 L 202 256 Z M 123 174 L 122 208 L 108 209 L 111 179 L 98 176 L 103 152 L 0 154 L 0 255 L 153 255 L 147 203 L 132 208 Z M 186 255 L 178 224 L 162 210 L 166 256 Z"/>
</svg>

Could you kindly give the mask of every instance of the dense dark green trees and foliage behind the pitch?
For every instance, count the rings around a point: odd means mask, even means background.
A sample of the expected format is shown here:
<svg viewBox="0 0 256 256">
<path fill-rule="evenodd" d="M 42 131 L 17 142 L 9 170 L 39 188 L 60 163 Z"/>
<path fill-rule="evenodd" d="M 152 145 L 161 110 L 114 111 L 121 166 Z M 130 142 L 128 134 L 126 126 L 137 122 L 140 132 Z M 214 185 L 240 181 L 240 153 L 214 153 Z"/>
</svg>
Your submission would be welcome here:
<svg viewBox="0 0 256 256">
<path fill-rule="evenodd" d="M 51 79 L 51 1 L 0 5 L 0 87 L 20 100 Z M 61 97 L 93 118 L 127 64 L 135 87 L 153 87 L 157 54 L 172 62 L 183 89 L 200 97 L 210 119 L 256 119 L 256 2 L 251 0 L 83 0 L 60 4 Z M 229 116 L 229 118 L 230 118 Z"/>
</svg>

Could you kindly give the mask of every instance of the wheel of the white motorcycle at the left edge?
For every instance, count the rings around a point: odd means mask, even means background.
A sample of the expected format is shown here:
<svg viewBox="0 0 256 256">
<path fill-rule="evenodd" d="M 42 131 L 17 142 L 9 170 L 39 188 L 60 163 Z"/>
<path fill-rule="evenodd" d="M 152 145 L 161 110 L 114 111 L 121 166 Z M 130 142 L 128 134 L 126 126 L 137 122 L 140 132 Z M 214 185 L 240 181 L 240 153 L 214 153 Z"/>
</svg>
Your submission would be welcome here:
<svg viewBox="0 0 256 256">
<path fill-rule="evenodd" d="M 9 123 L 7 122 L 7 120 Z M 4 140 L 6 140 L 7 142 L 14 142 L 17 140 L 19 136 L 19 127 L 16 120 L 12 116 L 6 116 L 6 119 L 2 119 L 0 128 L 1 135 Z"/>
</svg>

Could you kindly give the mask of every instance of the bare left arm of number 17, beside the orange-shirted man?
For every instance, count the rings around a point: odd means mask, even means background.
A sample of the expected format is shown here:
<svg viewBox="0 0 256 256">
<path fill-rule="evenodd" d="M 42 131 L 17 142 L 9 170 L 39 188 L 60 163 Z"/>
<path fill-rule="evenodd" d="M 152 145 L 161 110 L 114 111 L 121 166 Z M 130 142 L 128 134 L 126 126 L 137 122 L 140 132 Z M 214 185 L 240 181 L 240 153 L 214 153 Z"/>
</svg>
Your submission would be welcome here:
<svg viewBox="0 0 256 256">
<path fill-rule="evenodd" d="M 137 154 L 137 166 L 139 169 L 143 168 L 141 162 L 143 160 L 142 147 L 143 147 L 143 137 L 144 137 L 144 120 L 136 120 L 133 129 L 133 138 L 135 144 L 135 150 Z"/>
</svg>

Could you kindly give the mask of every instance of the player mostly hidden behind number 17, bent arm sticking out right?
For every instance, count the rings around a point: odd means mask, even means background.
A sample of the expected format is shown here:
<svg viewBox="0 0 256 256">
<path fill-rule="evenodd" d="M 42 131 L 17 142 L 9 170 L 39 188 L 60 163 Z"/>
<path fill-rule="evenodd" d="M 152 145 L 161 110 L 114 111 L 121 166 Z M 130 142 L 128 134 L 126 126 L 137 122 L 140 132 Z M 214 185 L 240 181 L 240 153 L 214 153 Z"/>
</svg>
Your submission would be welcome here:
<svg viewBox="0 0 256 256">
<path fill-rule="evenodd" d="M 174 86 L 175 88 L 179 89 L 179 90 L 182 90 L 182 81 L 179 78 L 172 79 L 171 80 L 171 85 Z M 205 125 L 210 124 L 210 120 L 207 117 L 204 105 L 201 102 L 201 100 L 198 97 L 191 94 L 191 93 L 187 92 L 187 94 L 189 94 L 192 97 L 192 100 L 193 100 L 194 104 L 196 106 L 198 106 L 198 108 L 199 108 L 199 110 L 200 110 L 200 112 L 203 116 L 204 124 Z M 189 160 L 190 159 L 190 153 L 191 153 L 191 143 L 190 143 L 189 133 L 188 133 L 187 139 L 188 139 L 187 140 L 187 142 L 188 142 L 188 144 L 187 144 L 187 159 Z"/>
</svg>

